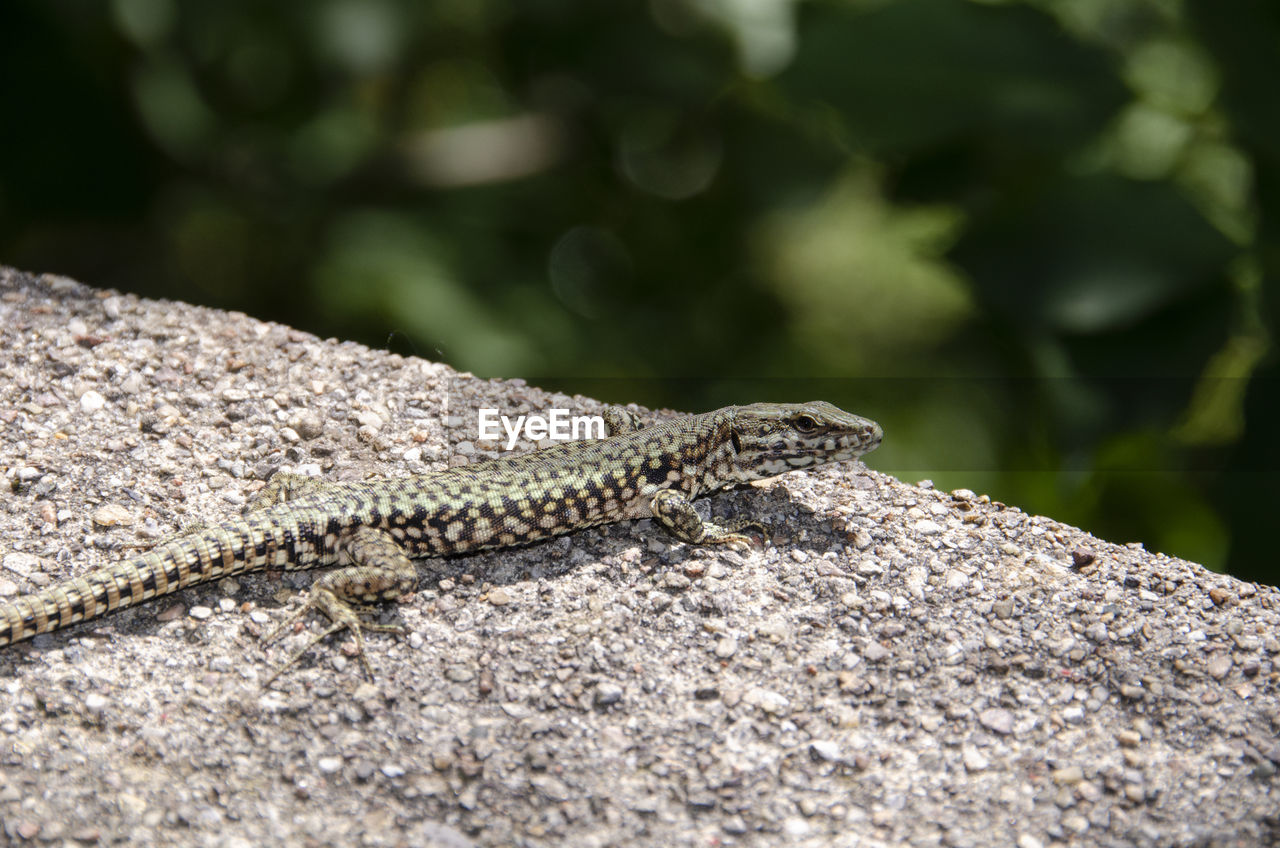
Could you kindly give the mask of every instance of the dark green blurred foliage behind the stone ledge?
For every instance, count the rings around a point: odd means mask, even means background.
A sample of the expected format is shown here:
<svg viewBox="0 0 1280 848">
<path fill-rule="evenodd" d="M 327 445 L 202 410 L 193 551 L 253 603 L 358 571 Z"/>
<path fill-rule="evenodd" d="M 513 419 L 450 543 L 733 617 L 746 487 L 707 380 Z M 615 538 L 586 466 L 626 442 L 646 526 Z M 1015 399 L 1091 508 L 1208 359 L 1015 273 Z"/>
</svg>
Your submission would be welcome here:
<svg viewBox="0 0 1280 848">
<path fill-rule="evenodd" d="M 1274 0 L 6 0 L 0 261 L 1276 583 Z"/>
</svg>

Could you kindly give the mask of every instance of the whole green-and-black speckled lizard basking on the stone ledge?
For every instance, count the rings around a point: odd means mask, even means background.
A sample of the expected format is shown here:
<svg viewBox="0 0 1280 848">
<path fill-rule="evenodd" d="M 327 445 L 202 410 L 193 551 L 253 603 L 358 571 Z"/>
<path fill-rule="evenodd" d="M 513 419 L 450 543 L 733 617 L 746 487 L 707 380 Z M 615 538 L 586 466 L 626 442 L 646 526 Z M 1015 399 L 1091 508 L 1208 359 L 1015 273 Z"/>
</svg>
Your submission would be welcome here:
<svg viewBox="0 0 1280 848">
<path fill-rule="evenodd" d="M 364 630 L 403 632 L 361 616 L 416 589 L 413 559 L 524 546 L 613 521 L 652 518 L 692 544 L 746 550 L 751 519 L 710 521 L 691 501 L 750 480 L 856 459 L 881 427 L 826 401 L 751 404 L 639 427 L 617 407 L 609 436 L 442 471 L 357 483 L 273 475 L 243 515 L 179 532 L 131 559 L 0 605 L 0 647 L 225 576 L 339 565 L 302 607 L 329 619 L 269 684 L 315 644 L 349 630 L 372 676 Z"/>
</svg>

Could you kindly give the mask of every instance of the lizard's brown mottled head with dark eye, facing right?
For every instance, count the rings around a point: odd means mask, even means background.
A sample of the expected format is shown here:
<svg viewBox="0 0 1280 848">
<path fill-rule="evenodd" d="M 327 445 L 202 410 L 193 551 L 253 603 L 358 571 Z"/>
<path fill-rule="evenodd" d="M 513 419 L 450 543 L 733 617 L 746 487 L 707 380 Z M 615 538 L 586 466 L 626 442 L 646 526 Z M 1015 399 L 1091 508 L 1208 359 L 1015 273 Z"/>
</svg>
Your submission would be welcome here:
<svg viewBox="0 0 1280 848">
<path fill-rule="evenodd" d="M 876 421 L 826 401 L 751 404 L 728 411 L 730 461 L 739 480 L 851 460 L 874 451 L 883 437 Z"/>
</svg>

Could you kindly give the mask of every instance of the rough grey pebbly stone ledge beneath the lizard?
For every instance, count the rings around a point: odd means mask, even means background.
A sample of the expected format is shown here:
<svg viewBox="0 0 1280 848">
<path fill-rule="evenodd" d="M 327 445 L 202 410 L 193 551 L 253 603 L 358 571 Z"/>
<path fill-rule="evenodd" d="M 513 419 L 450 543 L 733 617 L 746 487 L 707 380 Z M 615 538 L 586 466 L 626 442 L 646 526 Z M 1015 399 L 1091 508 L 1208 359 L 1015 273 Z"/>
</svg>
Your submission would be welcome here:
<svg viewBox="0 0 1280 848">
<path fill-rule="evenodd" d="M 233 515 L 279 469 L 428 471 L 500 451 L 479 406 L 599 410 L 12 269 L 0 337 L 0 599 Z M 769 544 L 640 521 L 420 564 L 372 681 L 338 638 L 261 687 L 305 634 L 259 637 L 311 573 L 3 648 L 0 842 L 1280 839 L 1276 589 L 856 464 L 700 503 Z"/>
</svg>

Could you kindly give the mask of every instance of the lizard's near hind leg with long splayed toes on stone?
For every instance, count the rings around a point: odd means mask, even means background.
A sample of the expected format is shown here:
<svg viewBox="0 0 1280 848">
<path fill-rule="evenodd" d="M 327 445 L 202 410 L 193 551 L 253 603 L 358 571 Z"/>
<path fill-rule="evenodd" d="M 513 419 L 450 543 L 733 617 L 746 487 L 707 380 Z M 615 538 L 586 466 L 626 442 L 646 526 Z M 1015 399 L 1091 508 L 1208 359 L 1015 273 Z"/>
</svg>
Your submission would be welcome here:
<svg viewBox="0 0 1280 848">
<path fill-rule="evenodd" d="M 285 628 L 316 610 L 332 623 L 319 635 L 307 640 L 300 651 L 275 669 L 262 685 L 269 685 L 283 671 L 293 666 L 312 647 L 340 630 L 351 630 L 356 640 L 356 656 L 370 678 L 374 670 L 365 656 L 364 632 L 403 633 L 398 624 L 370 624 L 361 621 L 361 614 L 371 614 L 370 606 L 378 601 L 394 601 L 417 585 L 417 571 L 404 548 L 385 530 L 358 528 L 346 541 L 346 552 L 352 565 L 334 569 L 311 584 L 311 593 L 302 608 L 282 621 L 262 638 L 273 642 Z"/>
</svg>

